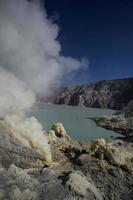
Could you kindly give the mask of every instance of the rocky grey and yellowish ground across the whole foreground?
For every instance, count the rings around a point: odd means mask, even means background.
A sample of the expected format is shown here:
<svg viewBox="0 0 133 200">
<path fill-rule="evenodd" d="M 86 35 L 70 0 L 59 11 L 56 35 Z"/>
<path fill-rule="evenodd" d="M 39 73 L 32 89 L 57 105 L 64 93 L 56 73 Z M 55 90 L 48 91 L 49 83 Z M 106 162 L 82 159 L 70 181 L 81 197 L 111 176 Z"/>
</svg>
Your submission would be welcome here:
<svg viewBox="0 0 133 200">
<path fill-rule="evenodd" d="M 62 124 L 47 133 L 53 163 L 0 130 L 0 200 L 131 200 L 133 143 L 75 141 Z"/>
</svg>

